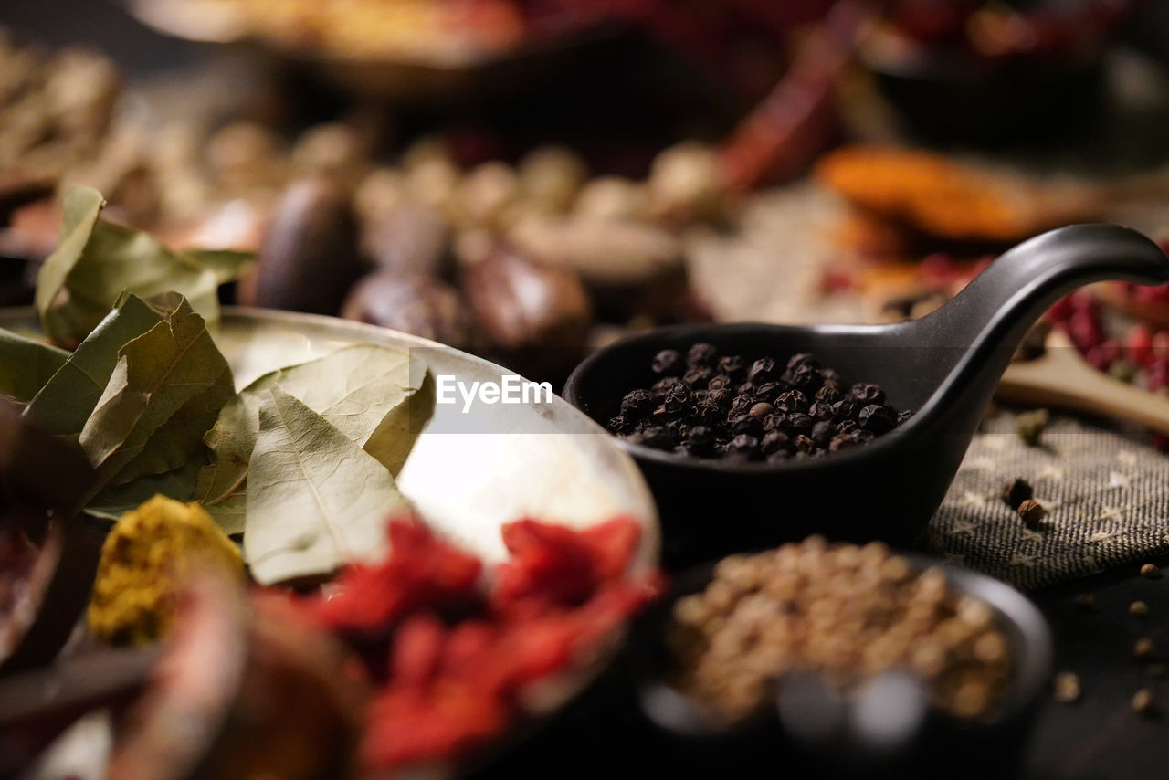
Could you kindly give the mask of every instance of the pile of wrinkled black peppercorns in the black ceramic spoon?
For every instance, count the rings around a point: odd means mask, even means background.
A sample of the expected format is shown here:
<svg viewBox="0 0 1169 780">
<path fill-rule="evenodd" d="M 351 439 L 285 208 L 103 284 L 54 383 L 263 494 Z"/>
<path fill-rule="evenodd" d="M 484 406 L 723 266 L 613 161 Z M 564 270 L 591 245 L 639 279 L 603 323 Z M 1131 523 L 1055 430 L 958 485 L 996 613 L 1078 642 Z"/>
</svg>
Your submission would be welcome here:
<svg viewBox="0 0 1169 780">
<path fill-rule="evenodd" d="M 846 387 L 808 353 L 781 366 L 774 358 L 748 363 L 736 354 L 719 356 L 711 344 L 694 344 L 685 354 L 658 352 L 650 367 L 660 379 L 628 393 L 609 430 L 694 457 L 823 457 L 865 444 L 911 414 L 886 405 L 878 385 Z"/>
</svg>

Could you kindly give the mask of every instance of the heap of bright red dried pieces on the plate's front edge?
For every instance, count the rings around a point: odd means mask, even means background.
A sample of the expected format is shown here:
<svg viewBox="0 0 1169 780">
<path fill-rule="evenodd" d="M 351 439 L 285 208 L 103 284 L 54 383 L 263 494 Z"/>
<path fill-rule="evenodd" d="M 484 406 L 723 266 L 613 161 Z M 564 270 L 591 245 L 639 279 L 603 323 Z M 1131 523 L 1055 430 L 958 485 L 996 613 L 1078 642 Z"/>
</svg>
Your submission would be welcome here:
<svg viewBox="0 0 1169 780">
<path fill-rule="evenodd" d="M 417 522 L 389 525 L 390 554 L 351 566 L 306 613 L 353 640 L 386 682 L 366 715 L 362 761 L 387 771 L 457 759 L 520 717 L 525 685 L 587 658 L 659 593 L 629 565 L 641 527 L 616 518 L 586 530 L 523 519 L 503 527 L 511 559 L 490 595 L 479 561 Z M 451 607 L 458 607 L 452 609 Z"/>
</svg>

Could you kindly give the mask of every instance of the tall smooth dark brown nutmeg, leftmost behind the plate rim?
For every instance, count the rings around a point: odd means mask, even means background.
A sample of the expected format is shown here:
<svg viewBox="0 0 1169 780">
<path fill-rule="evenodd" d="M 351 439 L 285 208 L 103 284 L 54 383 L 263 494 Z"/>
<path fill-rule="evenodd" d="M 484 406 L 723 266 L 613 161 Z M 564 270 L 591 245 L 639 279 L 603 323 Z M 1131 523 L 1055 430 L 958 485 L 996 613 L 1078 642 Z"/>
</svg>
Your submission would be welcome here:
<svg viewBox="0 0 1169 780">
<path fill-rule="evenodd" d="M 331 179 L 292 184 L 272 213 L 260 257 L 241 281 L 247 305 L 336 315 L 364 270 L 348 189 Z"/>
</svg>

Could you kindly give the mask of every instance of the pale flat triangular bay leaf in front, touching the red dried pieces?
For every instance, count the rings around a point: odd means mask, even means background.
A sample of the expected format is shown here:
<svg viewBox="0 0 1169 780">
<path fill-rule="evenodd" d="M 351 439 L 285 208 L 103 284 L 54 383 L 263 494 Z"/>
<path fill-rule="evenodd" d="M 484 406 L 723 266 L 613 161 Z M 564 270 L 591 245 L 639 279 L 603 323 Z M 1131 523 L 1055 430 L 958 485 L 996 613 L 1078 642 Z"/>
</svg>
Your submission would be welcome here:
<svg viewBox="0 0 1169 780">
<path fill-rule="evenodd" d="M 386 517 L 409 506 L 385 465 L 279 386 L 264 392 L 247 492 L 243 551 L 262 585 L 381 558 Z"/>
</svg>

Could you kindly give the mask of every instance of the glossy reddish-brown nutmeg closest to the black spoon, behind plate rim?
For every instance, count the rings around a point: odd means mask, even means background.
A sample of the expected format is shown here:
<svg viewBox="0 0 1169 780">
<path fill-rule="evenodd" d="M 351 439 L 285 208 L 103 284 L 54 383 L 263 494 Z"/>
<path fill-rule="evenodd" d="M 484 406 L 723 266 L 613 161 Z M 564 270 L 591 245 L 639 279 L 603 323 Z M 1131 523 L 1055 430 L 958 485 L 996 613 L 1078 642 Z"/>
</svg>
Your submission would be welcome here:
<svg viewBox="0 0 1169 780">
<path fill-rule="evenodd" d="M 580 359 L 593 308 L 570 268 L 497 247 L 463 274 L 476 324 L 505 364 L 560 378 Z"/>
</svg>

